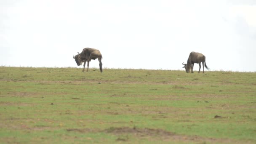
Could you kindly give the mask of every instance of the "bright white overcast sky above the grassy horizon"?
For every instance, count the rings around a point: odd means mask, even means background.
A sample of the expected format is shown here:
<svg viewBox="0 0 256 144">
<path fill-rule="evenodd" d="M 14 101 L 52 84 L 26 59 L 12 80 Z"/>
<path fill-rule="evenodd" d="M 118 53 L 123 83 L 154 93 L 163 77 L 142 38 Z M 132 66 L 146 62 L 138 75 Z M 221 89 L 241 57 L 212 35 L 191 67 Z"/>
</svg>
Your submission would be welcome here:
<svg viewBox="0 0 256 144">
<path fill-rule="evenodd" d="M 104 68 L 184 70 L 195 51 L 256 72 L 256 0 L 0 0 L 0 66 L 77 67 L 86 47 Z"/>
</svg>

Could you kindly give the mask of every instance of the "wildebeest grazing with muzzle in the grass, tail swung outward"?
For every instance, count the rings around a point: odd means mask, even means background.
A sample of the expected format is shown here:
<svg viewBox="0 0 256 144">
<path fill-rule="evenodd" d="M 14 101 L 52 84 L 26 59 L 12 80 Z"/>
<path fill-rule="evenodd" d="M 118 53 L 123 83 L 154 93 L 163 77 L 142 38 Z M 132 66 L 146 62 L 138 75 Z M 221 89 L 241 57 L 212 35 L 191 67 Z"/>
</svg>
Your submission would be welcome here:
<svg viewBox="0 0 256 144">
<path fill-rule="evenodd" d="M 189 54 L 189 58 L 187 59 L 187 64 L 184 64 L 184 62 L 182 64 L 184 65 L 184 68 L 187 73 L 190 73 L 190 72 L 194 73 L 194 64 L 197 63 L 197 64 L 199 64 L 198 73 L 200 73 L 201 62 L 203 64 L 203 73 L 205 73 L 204 67 L 209 70 L 209 68 L 207 67 L 206 62 L 205 62 L 205 56 L 202 53 L 196 53 L 196 52 L 192 51 Z"/>
</svg>

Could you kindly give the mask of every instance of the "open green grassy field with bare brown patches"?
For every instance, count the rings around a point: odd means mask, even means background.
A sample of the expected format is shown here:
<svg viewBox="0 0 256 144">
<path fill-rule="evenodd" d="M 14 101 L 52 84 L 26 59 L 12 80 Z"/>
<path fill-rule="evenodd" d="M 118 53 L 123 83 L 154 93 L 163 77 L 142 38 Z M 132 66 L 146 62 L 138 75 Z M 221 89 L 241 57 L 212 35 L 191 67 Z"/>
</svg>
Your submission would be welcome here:
<svg viewBox="0 0 256 144">
<path fill-rule="evenodd" d="M 256 73 L 0 67 L 0 143 L 256 143 Z"/>
</svg>

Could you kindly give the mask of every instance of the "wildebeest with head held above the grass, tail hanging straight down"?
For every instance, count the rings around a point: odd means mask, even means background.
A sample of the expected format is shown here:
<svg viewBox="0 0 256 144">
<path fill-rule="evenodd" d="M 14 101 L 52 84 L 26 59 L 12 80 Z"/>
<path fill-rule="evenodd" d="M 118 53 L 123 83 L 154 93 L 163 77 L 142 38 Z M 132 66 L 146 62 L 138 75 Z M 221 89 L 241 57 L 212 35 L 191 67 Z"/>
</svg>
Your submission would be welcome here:
<svg viewBox="0 0 256 144">
<path fill-rule="evenodd" d="M 77 52 L 78 53 L 78 52 Z M 75 59 L 75 62 L 77 63 L 77 66 L 80 66 L 83 62 L 83 71 L 85 71 L 85 63 L 87 61 L 87 72 L 89 69 L 89 63 L 90 61 L 93 59 L 98 59 L 99 60 L 99 69 L 102 72 L 102 55 L 101 52 L 97 49 L 94 48 L 84 48 L 83 51 L 81 53 L 78 53 L 77 55 L 75 55 L 75 57 L 73 56 L 73 59 Z"/>
</svg>

